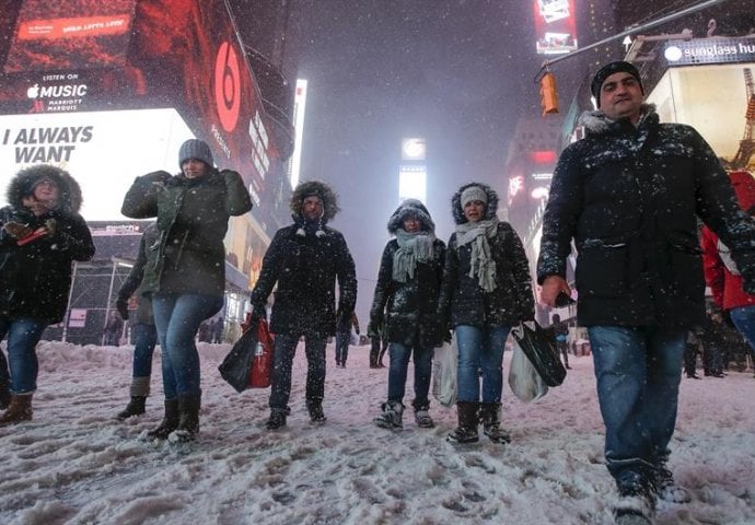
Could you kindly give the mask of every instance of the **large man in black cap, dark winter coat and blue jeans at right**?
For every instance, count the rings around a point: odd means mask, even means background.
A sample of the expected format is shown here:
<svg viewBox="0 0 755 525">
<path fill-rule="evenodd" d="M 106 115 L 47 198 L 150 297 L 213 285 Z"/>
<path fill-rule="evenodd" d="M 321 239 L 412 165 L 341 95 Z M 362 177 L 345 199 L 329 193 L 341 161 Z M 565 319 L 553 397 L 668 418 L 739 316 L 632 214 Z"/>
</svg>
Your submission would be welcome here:
<svg viewBox="0 0 755 525">
<path fill-rule="evenodd" d="M 655 498 L 684 501 L 667 469 L 685 335 L 705 315 L 699 218 L 755 292 L 755 222 L 716 153 L 689 126 L 660 124 L 637 69 L 612 62 L 591 86 L 599 110 L 556 166 L 537 264 L 554 306 L 577 246 L 578 323 L 592 346 L 617 523 L 651 523 Z"/>
</svg>

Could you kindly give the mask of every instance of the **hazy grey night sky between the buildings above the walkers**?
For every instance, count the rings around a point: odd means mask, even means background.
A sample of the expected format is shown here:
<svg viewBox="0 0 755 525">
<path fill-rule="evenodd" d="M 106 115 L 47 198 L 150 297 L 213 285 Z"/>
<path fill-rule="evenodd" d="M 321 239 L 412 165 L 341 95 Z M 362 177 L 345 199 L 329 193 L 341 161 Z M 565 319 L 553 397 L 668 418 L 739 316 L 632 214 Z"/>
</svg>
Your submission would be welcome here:
<svg viewBox="0 0 755 525">
<path fill-rule="evenodd" d="M 367 315 L 385 225 L 398 201 L 402 137 L 428 142 L 427 206 L 452 232 L 450 198 L 483 180 L 502 196 L 518 117 L 539 114 L 531 2 L 325 0 L 309 12 L 299 75 L 309 80 L 302 178 L 330 183 Z M 367 319 L 363 319 L 364 324 Z"/>
</svg>

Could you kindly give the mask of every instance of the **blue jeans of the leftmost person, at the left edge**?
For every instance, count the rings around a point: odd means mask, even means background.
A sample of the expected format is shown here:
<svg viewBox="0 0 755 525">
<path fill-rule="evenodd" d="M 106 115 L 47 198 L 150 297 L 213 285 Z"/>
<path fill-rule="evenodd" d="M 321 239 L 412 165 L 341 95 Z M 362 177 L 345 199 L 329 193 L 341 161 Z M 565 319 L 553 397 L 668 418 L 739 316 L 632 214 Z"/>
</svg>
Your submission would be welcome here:
<svg viewBox="0 0 755 525">
<path fill-rule="evenodd" d="M 37 342 L 47 328 L 47 320 L 33 317 L 0 316 L 0 340 L 8 336 L 8 361 L 0 352 L 0 383 L 10 385 L 11 394 L 31 394 L 37 389 Z"/>
</svg>

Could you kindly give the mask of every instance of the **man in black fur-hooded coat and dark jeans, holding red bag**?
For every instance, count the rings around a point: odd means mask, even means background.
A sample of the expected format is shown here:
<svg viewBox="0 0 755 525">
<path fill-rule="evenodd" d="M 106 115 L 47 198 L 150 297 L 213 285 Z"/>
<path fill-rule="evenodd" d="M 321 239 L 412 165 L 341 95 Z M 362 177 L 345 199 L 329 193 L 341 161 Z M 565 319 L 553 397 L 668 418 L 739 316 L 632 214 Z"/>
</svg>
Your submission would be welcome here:
<svg viewBox="0 0 755 525">
<path fill-rule="evenodd" d="M 338 212 L 336 194 L 325 183 L 303 182 L 293 190 L 290 208 L 294 223 L 276 232 L 251 296 L 252 317 L 258 319 L 278 284 L 270 315 L 270 331 L 276 335 L 270 418 L 266 423 L 270 430 L 286 424 L 291 364 L 302 336 L 307 360 L 306 408 L 313 423 L 325 421 L 325 347 L 336 327 L 348 329 L 357 303 L 353 259 L 344 235 L 327 226 Z"/>
</svg>

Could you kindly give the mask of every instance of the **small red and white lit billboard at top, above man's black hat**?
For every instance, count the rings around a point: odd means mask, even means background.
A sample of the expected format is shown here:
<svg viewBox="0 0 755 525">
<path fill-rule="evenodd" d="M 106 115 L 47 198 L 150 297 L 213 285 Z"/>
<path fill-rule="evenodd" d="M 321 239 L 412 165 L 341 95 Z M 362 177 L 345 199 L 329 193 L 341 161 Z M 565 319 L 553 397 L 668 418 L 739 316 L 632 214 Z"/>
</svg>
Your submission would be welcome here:
<svg viewBox="0 0 755 525">
<path fill-rule="evenodd" d="M 539 55 L 561 55 L 577 49 L 574 0 L 533 0 L 536 48 Z"/>
</svg>

